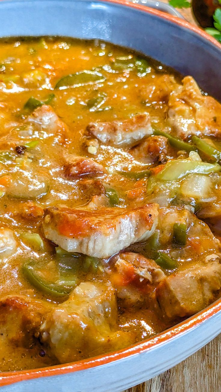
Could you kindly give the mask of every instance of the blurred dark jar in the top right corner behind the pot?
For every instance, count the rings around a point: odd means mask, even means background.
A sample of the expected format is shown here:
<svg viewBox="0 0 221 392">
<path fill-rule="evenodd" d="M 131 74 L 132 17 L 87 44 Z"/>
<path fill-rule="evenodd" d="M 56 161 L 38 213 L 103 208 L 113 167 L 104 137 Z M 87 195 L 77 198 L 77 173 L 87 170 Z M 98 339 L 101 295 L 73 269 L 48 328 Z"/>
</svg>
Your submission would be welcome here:
<svg viewBox="0 0 221 392">
<path fill-rule="evenodd" d="M 192 0 L 194 16 L 201 27 L 213 27 L 214 11 L 221 8 L 218 0 Z"/>
</svg>

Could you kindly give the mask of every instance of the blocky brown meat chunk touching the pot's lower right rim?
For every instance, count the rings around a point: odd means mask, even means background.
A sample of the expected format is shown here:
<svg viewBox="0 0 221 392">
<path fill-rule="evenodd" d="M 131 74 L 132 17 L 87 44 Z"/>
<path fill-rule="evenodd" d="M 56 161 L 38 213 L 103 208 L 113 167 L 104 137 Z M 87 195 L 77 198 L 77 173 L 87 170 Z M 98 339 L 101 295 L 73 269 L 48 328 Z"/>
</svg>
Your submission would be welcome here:
<svg viewBox="0 0 221 392">
<path fill-rule="evenodd" d="M 208 306 L 220 288 L 221 264 L 210 260 L 166 277 L 157 287 L 157 299 L 166 316 L 175 319 Z"/>
</svg>

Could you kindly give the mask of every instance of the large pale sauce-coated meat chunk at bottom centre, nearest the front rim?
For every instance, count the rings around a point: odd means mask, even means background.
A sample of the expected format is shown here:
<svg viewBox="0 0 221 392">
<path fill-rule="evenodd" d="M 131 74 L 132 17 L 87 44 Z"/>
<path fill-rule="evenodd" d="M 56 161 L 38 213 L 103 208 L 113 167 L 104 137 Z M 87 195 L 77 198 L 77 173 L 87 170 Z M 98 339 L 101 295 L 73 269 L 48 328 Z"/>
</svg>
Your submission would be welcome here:
<svg viewBox="0 0 221 392">
<path fill-rule="evenodd" d="M 117 331 L 117 303 L 110 284 L 80 283 L 68 301 L 55 307 L 41 327 L 61 363 L 88 358 L 124 347 L 134 339 Z"/>
</svg>

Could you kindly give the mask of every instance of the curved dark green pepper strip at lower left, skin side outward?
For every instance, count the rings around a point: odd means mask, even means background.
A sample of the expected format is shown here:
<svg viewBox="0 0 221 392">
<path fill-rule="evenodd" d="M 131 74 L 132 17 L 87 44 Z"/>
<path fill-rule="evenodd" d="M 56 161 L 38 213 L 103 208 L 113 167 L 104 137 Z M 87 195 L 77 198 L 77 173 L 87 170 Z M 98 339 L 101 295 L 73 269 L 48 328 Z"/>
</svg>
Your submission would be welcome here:
<svg viewBox="0 0 221 392">
<path fill-rule="evenodd" d="M 60 281 L 60 284 L 48 283 L 42 279 L 33 265 L 26 263 L 22 267 L 22 272 L 28 279 L 29 283 L 38 290 L 55 297 L 67 296 L 71 290 L 76 287 L 76 281 Z"/>
</svg>

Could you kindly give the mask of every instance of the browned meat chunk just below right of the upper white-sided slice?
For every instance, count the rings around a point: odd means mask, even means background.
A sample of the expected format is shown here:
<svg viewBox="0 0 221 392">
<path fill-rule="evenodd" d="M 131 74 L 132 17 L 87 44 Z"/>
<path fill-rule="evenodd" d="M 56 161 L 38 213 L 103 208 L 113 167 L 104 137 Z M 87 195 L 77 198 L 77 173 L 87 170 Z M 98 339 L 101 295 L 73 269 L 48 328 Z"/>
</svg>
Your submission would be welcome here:
<svg viewBox="0 0 221 392">
<path fill-rule="evenodd" d="M 151 136 L 131 150 L 133 157 L 142 163 L 165 163 L 168 139 L 164 136 Z"/>
</svg>

